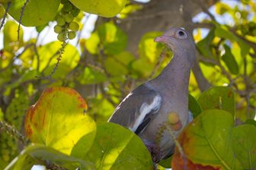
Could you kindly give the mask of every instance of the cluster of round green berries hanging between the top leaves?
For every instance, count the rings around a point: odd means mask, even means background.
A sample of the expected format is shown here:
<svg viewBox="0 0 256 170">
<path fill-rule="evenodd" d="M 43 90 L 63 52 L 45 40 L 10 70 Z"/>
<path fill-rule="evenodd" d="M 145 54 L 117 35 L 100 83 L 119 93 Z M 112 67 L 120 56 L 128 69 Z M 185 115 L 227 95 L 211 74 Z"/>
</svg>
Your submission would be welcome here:
<svg viewBox="0 0 256 170">
<path fill-rule="evenodd" d="M 56 16 L 57 24 L 54 27 L 54 32 L 58 33 L 57 39 L 63 42 L 66 38 L 75 38 L 75 31 L 79 29 L 79 25 L 73 20 L 80 10 L 72 5 L 69 0 L 61 0 L 60 3 L 62 3 L 63 7 Z"/>
</svg>

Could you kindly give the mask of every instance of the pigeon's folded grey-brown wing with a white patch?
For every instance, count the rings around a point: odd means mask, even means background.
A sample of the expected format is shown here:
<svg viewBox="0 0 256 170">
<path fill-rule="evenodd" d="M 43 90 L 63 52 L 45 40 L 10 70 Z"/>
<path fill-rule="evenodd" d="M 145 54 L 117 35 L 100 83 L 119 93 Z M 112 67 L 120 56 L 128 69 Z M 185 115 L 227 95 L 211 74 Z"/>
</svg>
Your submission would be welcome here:
<svg viewBox="0 0 256 170">
<path fill-rule="evenodd" d="M 108 121 L 139 134 L 152 121 L 161 105 L 162 96 L 149 83 L 144 83 L 123 99 Z"/>
</svg>

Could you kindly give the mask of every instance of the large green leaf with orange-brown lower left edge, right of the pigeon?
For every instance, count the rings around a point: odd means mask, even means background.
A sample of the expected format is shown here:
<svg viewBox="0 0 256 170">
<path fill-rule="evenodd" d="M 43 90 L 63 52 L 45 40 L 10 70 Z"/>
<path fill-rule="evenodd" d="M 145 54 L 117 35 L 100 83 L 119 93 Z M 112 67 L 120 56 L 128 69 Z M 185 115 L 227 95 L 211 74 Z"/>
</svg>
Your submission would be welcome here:
<svg viewBox="0 0 256 170">
<path fill-rule="evenodd" d="M 229 112 L 203 111 L 178 137 L 186 158 L 176 148 L 172 168 L 182 169 L 185 163 L 188 169 L 242 169 L 232 152 L 233 126 L 234 118 Z"/>
</svg>

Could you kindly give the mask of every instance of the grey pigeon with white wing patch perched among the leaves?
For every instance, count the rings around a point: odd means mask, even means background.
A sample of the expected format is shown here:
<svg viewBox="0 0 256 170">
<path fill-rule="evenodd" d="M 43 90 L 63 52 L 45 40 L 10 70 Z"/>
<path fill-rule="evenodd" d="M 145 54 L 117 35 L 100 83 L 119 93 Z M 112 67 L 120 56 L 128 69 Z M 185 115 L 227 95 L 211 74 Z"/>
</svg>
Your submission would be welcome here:
<svg viewBox="0 0 256 170">
<path fill-rule="evenodd" d="M 193 37 L 178 27 L 156 37 L 155 42 L 165 43 L 171 49 L 171 61 L 161 74 L 131 91 L 108 121 L 137 134 L 152 161 L 158 163 L 174 153 L 173 137 L 178 137 L 193 119 L 188 110 L 188 85 L 195 45 Z"/>
</svg>

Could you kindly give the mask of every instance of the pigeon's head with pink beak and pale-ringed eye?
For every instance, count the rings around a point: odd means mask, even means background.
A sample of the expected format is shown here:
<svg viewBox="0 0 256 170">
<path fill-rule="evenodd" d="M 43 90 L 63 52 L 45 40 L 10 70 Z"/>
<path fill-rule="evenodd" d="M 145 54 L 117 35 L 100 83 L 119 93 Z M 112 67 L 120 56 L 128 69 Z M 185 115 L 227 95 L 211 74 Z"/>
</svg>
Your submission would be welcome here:
<svg viewBox="0 0 256 170">
<path fill-rule="evenodd" d="M 171 30 L 166 31 L 162 36 L 156 37 L 155 42 L 165 43 L 174 54 L 191 54 L 190 56 L 192 58 L 190 59 L 194 60 L 194 39 L 183 28 L 171 28 Z"/>
</svg>

